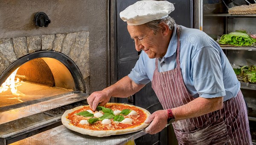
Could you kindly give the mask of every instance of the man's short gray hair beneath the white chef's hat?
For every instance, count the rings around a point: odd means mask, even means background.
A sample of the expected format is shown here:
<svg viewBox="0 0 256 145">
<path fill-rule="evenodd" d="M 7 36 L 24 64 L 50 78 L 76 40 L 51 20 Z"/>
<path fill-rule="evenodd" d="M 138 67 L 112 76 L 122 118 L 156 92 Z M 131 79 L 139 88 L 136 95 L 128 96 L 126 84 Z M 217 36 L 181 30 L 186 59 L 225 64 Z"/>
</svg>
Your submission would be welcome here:
<svg viewBox="0 0 256 145">
<path fill-rule="evenodd" d="M 169 16 L 166 18 L 160 19 L 160 20 L 153 20 L 153 21 L 147 22 L 145 24 L 148 26 L 148 28 L 151 28 L 154 31 L 154 34 L 156 34 L 156 32 L 159 31 L 159 29 L 160 29 L 159 24 L 161 22 L 166 23 L 169 26 L 170 30 L 173 30 L 174 25 L 176 24 L 175 20 Z"/>
</svg>

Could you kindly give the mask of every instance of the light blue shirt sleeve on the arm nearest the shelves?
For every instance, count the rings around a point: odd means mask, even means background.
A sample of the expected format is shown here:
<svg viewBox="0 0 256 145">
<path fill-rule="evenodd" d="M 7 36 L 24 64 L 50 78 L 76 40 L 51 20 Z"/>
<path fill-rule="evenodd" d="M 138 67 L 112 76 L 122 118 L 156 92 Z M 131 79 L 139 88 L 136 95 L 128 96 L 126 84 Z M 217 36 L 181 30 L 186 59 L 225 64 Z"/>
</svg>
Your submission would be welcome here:
<svg viewBox="0 0 256 145">
<path fill-rule="evenodd" d="M 212 47 L 202 47 L 192 57 L 190 75 L 200 97 L 225 96 L 220 52 Z"/>
</svg>

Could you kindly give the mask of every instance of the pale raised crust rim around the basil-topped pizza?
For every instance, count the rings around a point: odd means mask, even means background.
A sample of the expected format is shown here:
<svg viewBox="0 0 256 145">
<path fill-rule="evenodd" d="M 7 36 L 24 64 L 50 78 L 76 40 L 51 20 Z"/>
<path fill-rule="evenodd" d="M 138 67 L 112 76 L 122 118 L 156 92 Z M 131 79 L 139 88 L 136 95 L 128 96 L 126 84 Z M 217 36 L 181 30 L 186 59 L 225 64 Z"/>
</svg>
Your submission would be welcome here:
<svg viewBox="0 0 256 145">
<path fill-rule="evenodd" d="M 125 105 L 125 106 L 133 106 L 133 105 L 129 105 L 129 104 L 124 104 L 124 103 L 107 103 L 107 105 Z M 136 132 L 136 131 L 140 131 L 142 130 L 143 128 L 146 128 L 149 124 L 147 123 L 143 123 L 139 126 L 136 126 L 134 128 L 126 128 L 126 129 L 119 129 L 119 130 L 109 130 L 109 131 L 93 131 L 93 130 L 90 130 L 90 129 L 86 129 L 86 128 L 79 128 L 79 127 L 76 127 L 74 125 L 72 125 L 70 123 L 70 120 L 67 119 L 66 117 L 68 116 L 69 113 L 72 113 L 78 109 L 81 109 L 83 108 L 84 106 L 78 106 L 74 109 L 70 109 L 70 110 L 67 110 L 66 112 L 64 112 L 64 114 L 62 115 L 61 117 L 61 122 L 63 123 L 64 126 L 66 126 L 67 128 L 69 128 L 70 130 L 73 130 L 73 131 L 76 131 L 76 132 L 79 132 L 81 134 L 87 134 L 87 135 L 90 135 L 90 136 L 95 136 L 95 137 L 108 137 L 108 136 L 111 136 L 111 135 L 119 135 L 119 134 L 127 134 L 127 133 L 132 133 L 132 132 Z M 148 112 L 148 110 L 146 109 L 143 109 L 141 107 L 137 107 L 135 106 L 136 108 L 139 108 L 141 110 L 143 110 L 143 112 L 147 115 L 147 118 L 149 117 L 150 113 Z"/>
</svg>

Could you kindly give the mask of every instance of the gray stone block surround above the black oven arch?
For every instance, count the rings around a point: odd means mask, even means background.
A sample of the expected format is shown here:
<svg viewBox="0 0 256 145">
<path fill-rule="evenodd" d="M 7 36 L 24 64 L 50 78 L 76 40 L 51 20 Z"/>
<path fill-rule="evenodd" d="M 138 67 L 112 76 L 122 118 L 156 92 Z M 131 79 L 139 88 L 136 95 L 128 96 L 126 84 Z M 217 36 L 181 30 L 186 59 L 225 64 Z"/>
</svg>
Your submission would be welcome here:
<svg viewBox="0 0 256 145">
<path fill-rule="evenodd" d="M 89 32 L 87 31 L 0 39 L 0 74 L 20 57 L 40 50 L 56 51 L 72 59 L 79 67 L 86 90 L 89 92 Z"/>
</svg>

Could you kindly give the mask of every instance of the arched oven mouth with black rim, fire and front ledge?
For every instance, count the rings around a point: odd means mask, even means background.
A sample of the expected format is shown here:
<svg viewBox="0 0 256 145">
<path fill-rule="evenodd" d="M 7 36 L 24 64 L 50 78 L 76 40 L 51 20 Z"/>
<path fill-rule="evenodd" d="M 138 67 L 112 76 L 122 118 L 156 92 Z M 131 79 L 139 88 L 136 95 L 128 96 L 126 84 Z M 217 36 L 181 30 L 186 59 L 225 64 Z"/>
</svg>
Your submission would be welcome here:
<svg viewBox="0 0 256 145">
<path fill-rule="evenodd" d="M 62 53 L 23 56 L 0 75 L 0 125 L 84 100 L 83 76 Z"/>
</svg>

